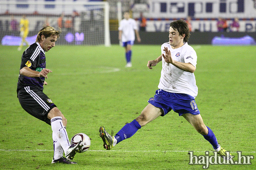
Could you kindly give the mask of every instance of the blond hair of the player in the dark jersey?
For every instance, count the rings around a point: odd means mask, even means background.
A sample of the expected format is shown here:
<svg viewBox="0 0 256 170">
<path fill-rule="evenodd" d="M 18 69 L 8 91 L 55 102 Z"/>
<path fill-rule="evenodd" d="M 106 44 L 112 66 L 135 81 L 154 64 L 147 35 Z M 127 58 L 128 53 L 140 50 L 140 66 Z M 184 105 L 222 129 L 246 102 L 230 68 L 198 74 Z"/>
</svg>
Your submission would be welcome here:
<svg viewBox="0 0 256 170">
<path fill-rule="evenodd" d="M 41 42 L 41 36 L 44 35 L 45 38 L 47 37 L 51 37 L 52 35 L 56 35 L 57 38 L 60 37 L 61 34 L 61 28 L 58 28 L 58 30 L 56 30 L 55 28 L 51 27 L 51 26 L 44 26 L 39 32 L 38 35 L 36 37 L 35 42 Z"/>
</svg>

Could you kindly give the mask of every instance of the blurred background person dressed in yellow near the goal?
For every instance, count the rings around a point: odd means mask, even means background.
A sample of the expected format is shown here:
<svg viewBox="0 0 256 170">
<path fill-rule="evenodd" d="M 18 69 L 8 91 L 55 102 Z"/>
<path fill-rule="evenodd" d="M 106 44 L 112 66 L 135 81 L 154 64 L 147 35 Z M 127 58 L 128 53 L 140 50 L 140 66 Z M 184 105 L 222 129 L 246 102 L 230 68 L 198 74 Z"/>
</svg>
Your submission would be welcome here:
<svg viewBox="0 0 256 170">
<path fill-rule="evenodd" d="M 18 51 L 21 50 L 23 47 L 23 43 L 25 42 L 26 45 L 29 46 L 29 42 L 26 41 L 26 37 L 29 34 L 29 20 L 26 18 L 26 15 L 23 15 L 23 17 L 20 20 L 20 37 L 22 38 L 20 46 L 18 47 Z"/>
</svg>

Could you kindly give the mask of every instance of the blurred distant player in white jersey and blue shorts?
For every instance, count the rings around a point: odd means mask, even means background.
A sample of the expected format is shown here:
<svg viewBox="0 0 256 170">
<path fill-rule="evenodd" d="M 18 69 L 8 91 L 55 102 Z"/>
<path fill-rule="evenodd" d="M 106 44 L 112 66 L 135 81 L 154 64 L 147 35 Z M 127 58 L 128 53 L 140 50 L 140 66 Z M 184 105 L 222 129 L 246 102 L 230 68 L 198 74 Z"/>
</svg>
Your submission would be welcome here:
<svg viewBox="0 0 256 170">
<path fill-rule="evenodd" d="M 140 42 L 140 34 L 136 21 L 130 18 L 130 13 L 126 11 L 124 13 L 124 19 L 119 24 L 119 41 L 122 41 L 122 46 L 125 48 L 126 67 L 131 67 L 131 47 L 134 45 L 135 34 L 137 41 Z"/>
</svg>

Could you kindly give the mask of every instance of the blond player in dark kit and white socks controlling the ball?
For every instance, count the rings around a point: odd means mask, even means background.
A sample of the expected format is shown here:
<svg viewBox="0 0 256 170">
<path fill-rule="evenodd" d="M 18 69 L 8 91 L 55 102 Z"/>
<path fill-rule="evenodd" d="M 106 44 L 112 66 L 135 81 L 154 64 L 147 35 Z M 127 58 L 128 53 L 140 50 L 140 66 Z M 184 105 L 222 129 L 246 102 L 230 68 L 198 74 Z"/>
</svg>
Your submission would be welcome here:
<svg viewBox="0 0 256 170">
<path fill-rule="evenodd" d="M 36 42 L 27 48 L 21 58 L 20 75 L 17 83 L 17 97 L 22 108 L 52 127 L 54 155 L 52 163 L 76 164 L 75 154 L 81 149 L 81 142 L 70 145 L 66 125 L 67 119 L 43 93 L 45 78 L 52 71 L 46 68 L 45 52 L 55 46 L 61 30 L 44 26 L 37 35 Z M 63 157 L 63 152 L 65 157 Z"/>
</svg>

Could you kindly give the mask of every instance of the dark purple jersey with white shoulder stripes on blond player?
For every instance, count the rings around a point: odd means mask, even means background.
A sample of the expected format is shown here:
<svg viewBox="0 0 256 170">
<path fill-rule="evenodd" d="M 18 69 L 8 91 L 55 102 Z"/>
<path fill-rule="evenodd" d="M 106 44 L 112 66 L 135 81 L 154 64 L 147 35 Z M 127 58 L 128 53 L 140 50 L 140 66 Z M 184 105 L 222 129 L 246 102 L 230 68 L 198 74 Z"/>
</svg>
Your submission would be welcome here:
<svg viewBox="0 0 256 170">
<path fill-rule="evenodd" d="M 29 67 L 30 69 L 39 72 L 46 68 L 45 52 L 38 42 L 30 45 L 29 48 L 23 52 L 20 69 L 23 67 Z M 44 79 L 44 77 L 26 77 L 19 75 L 17 91 L 26 86 L 33 86 L 43 91 Z"/>
</svg>

